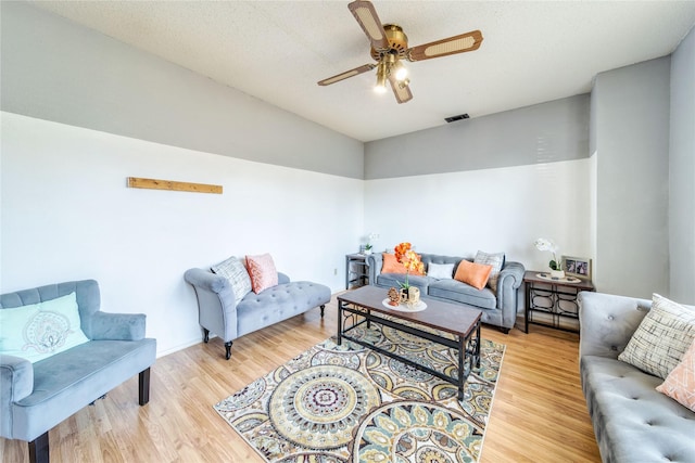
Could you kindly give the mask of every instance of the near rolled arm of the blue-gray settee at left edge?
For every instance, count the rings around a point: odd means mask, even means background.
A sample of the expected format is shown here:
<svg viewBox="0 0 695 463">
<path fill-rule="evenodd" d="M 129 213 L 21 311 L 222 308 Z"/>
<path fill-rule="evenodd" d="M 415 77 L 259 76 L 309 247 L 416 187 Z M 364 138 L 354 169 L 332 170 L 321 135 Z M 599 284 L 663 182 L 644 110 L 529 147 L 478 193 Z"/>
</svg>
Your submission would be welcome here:
<svg viewBox="0 0 695 463">
<path fill-rule="evenodd" d="M 12 403 L 34 391 L 34 365 L 26 359 L 0 353 L 0 436 L 13 439 Z"/>
</svg>

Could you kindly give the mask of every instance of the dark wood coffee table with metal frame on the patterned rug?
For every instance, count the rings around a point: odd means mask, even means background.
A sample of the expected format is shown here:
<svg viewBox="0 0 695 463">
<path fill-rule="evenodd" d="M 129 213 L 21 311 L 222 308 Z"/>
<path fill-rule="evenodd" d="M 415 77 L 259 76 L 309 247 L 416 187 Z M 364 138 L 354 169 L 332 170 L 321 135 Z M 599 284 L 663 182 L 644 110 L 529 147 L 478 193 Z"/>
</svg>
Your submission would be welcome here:
<svg viewBox="0 0 695 463">
<path fill-rule="evenodd" d="M 387 298 L 387 292 L 388 290 L 386 288 L 370 285 L 349 291 L 338 296 L 338 345 L 345 338 L 440 377 L 455 385 L 458 388 L 458 399 L 463 400 L 464 384 L 466 384 L 470 371 L 473 368 L 480 368 L 480 317 L 482 311 L 472 307 L 447 304 L 427 297 L 422 298 L 427 304 L 427 308 L 422 311 L 394 310 L 387 308 L 382 304 L 383 299 Z M 352 324 L 344 326 L 350 319 Z M 410 324 L 404 324 L 403 322 L 405 321 L 410 322 Z M 443 372 L 403 358 L 395 352 L 351 336 L 350 332 L 363 323 L 366 323 L 367 327 L 371 323 L 389 326 L 456 349 L 458 352 L 458 377 L 452 377 Z M 418 327 L 418 325 L 422 326 L 422 329 Z M 425 327 L 437 330 L 442 334 L 447 333 L 452 336 L 435 334 L 431 331 L 426 331 Z"/>
</svg>

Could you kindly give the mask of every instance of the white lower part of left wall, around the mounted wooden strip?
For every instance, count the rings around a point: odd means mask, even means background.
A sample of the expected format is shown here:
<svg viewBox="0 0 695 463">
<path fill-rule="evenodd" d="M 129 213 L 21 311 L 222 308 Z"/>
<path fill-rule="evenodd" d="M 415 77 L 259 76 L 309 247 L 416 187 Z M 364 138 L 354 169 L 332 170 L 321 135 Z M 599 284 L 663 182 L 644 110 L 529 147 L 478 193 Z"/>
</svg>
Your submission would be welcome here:
<svg viewBox="0 0 695 463">
<path fill-rule="evenodd" d="M 269 252 L 295 280 L 344 285 L 344 254 L 363 231 L 362 180 L 0 116 L 2 293 L 96 279 L 102 309 L 147 313 L 163 355 L 201 339 L 190 267 Z M 127 177 L 224 194 L 128 189 Z"/>
</svg>

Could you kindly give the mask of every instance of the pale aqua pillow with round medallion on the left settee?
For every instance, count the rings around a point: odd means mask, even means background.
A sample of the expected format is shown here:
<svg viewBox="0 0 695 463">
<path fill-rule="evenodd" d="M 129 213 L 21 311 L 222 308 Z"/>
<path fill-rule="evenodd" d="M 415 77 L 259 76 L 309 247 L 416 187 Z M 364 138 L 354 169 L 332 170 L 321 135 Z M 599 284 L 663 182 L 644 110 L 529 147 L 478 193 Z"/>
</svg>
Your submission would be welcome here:
<svg viewBox="0 0 695 463">
<path fill-rule="evenodd" d="M 0 309 L 0 353 L 31 363 L 89 342 L 75 293 L 28 306 Z"/>
</svg>

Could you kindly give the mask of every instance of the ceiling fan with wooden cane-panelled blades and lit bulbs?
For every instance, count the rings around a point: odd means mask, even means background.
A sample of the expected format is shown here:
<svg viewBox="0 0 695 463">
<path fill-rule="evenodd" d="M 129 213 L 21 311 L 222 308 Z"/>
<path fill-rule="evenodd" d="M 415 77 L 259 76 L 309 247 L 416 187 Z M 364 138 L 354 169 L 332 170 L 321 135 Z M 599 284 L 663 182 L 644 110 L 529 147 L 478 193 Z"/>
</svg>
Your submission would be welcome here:
<svg viewBox="0 0 695 463">
<path fill-rule="evenodd" d="M 378 92 L 387 91 L 387 80 L 391 83 L 393 93 L 399 103 L 405 103 L 413 99 L 408 85 L 407 69 L 402 60 L 424 61 L 432 57 L 448 56 L 450 54 L 464 53 L 478 50 L 482 43 L 480 30 L 460 34 L 446 39 L 408 48 L 408 38 L 395 24 L 381 25 L 377 10 L 370 1 L 356 0 L 348 5 L 362 29 L 371 43 L 371 57 L 377 64 L 368 63 L 354 69 L 346 70 L 336 76 L 319 80 L 319 86 L 330 86 L 350 77 L 357 76 L 367 70 L 377 68 Z"/>
</svg>

